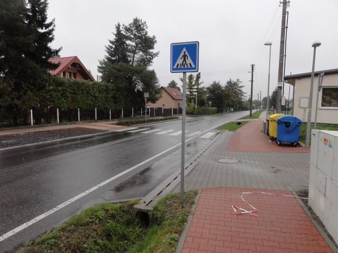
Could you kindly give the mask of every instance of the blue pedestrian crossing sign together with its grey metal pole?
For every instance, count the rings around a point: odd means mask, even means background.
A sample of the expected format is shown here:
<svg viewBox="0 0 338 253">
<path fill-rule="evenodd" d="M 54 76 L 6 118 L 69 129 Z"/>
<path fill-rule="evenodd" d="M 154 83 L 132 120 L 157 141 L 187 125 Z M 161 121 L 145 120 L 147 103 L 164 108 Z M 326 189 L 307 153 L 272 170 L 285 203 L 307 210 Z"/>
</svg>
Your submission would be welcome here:
<svg viewBox="0 0 338 253">
<path fill-rule="evenodd" d="M 184 151 L 185 151 L 185 111 L 186 111 L 186 72 L 199 71 L 199 42 L 181 42 L 170 45 L 170 72 L 183 73 L 182 92 L 182 141 L 181 141 L 181 188 L 180 201 L 184 202 Z"/>
</svg>

